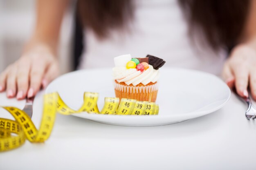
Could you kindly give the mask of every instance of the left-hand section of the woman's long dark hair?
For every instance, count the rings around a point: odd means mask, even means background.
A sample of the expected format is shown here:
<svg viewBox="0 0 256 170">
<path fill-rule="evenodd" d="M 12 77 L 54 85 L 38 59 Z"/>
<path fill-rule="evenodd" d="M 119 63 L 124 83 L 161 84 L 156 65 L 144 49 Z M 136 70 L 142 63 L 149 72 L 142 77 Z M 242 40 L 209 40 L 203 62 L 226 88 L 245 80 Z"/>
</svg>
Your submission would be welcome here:
<svg viewBox="0 0 256 170">
<path fill-rule="evenodd" d="M 111 29 L 122 29 L 133 18 L 131 0 L 78 0 L 80 19 L 98 38 Z"/>
</svg>

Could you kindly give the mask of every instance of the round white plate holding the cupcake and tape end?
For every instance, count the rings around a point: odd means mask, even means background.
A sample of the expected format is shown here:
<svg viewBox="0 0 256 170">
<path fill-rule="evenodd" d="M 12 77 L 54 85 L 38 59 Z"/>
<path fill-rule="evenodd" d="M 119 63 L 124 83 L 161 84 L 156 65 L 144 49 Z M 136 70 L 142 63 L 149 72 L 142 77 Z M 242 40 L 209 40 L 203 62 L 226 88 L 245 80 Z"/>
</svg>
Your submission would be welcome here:
<svg viewBox="0 0 256 170">
<path fill-rule="evenodd" d="M 55 79 L 46 93 L 57 91 L 75 110 L 83 104 L 85 91 L 98 92 L 99 109 L 104 97 L 115 97 L 112 69 L 74 71 Z M 93 121 L 121 126 L 159 126 L 200 117 L 222 108 L 230 98 L 228 86 L 215 75 L 180 68 L 162 68 L 156 103 L 159 114 L 151 116 L 73 114 Z"/>
</svg>

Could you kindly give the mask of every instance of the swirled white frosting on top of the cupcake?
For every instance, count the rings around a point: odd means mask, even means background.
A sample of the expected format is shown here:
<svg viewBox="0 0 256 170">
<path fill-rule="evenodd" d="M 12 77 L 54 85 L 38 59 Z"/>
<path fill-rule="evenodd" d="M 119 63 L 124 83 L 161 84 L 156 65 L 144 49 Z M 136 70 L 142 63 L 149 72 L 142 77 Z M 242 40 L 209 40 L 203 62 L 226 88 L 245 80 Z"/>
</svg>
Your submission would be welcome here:
<svg viewBox="0 0 256 170">
<path fill-rule="evenodd" d="M 127 85 L 132 84 L 136 86 L 140 83 L 146 85 L 150 82 L 155 83 L 159 77 L 159 71 L 155 70 L 153 66 L 149 65 L 146 71 L 137 71 L 136 68 L 127 69 L 123 67 L 114 67 L 112 69 L 113 77 L 117 82 L 124 82 Z"/>
</svg>

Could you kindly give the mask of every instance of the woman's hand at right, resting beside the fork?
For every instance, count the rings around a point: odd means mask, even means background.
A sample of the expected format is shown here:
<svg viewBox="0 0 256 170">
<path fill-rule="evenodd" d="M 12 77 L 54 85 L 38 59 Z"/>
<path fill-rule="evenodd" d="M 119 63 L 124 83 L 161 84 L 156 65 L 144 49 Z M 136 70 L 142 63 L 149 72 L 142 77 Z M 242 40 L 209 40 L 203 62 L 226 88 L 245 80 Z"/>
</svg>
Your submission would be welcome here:
<svg viewBox="0 0 256 170">
<path fill-rule="evenodd" d="M 229 88 L 235 87 L 241 97 L 248 97 L 249 86 L 256 100 L 256 48 L 249 44 L 236 46 L 224 65 L 223 77 Z"/>
</svg>

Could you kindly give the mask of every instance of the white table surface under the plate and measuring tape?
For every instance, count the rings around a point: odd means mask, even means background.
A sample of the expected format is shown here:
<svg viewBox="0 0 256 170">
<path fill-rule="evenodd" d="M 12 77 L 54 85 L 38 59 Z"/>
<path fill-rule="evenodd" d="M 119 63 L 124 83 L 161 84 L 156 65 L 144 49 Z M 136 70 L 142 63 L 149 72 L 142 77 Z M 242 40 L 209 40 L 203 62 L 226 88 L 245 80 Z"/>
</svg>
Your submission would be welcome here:
<svg viewBox="0 0 256 170">
<path fill-rule="evenodd" d="M 32 121 L 42 113 L 40 92 Z M 22 108 L 24 101 L 0 105 Z M 124 127 L 57 115 L 44 144 L 26 141 L 0 153 L 1 170 L 255 170 L 256 120 L 245 118 L 246 106 L 234 94 L 215 113 L 178 124 Z M 0 117 L 11 118 L 0 110 Z"/>
</svg>

